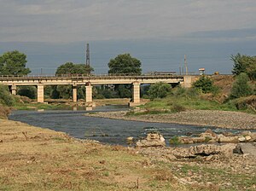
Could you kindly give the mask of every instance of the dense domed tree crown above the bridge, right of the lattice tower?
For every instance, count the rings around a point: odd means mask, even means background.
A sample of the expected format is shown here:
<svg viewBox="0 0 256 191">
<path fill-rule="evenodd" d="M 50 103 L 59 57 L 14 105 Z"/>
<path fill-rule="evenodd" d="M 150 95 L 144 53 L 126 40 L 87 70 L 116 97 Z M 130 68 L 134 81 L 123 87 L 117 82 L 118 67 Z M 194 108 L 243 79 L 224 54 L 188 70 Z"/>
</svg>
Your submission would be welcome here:
<svg viewBox="0 0 256 191">
<path fill-rule="evenodd" d="M 118 55 L 108 62 L 108 73 L 141 74 L 142 63 L 130 54 Z"/>
</svg>

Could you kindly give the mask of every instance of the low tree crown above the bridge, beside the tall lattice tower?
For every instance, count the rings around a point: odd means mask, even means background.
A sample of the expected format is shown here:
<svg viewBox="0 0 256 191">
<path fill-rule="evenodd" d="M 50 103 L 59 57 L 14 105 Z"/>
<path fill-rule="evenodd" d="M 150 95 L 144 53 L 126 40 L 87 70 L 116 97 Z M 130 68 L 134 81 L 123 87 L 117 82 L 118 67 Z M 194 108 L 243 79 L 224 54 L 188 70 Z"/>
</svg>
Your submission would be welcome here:
<svg viewBox="0 0 256 191">
<path fill-rule="evenodd" d="M 67 62 L 57 68 L 55 74 L 87 74 L 93 72 L 93 68 L 84 64 L 73 64 L 73 62 Z"/>
</svg>

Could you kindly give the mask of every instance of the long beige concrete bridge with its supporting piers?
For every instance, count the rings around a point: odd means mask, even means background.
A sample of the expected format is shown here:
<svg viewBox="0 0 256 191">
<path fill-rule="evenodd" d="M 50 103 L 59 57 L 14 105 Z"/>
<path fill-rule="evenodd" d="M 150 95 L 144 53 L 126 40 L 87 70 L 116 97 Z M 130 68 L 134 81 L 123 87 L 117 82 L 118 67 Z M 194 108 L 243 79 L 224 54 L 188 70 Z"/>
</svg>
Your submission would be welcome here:
<svg viewBox="0 0 256 191">
<path fill-rule="evenodd" d="M 131 105 L 140 103 L 140 84 L 164 82 L 190 87 L 198 76 L 190 75 L 61 75 L 61 76 L 0 76 L 0 84 L 8 85 L 13 95 L 17 86 L 33 85 L 38 87 L 38 102 L 44 102 L 44 85 L 72 85 L 73 101 L 77 101 L 77 87 L 85 85 L 85 102 L 92 104 L 92 86 L 98 84 L 132 84 Z"/>
</svg>

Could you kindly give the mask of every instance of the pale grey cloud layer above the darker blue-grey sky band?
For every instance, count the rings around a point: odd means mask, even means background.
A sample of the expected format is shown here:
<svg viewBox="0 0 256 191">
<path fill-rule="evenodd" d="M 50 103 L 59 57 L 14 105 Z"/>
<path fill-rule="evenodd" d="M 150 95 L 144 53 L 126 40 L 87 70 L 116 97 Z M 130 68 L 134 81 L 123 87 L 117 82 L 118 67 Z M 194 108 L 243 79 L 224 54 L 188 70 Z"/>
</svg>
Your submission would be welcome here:
<svg viewBox="0 0 256 191">
<path fill-rule="evenodd" d="M 256 28 L 255 9 L 254 0 L 0 0 L 0 42 L 172 39 Z"/>
</svg>

